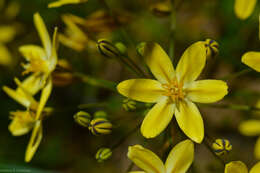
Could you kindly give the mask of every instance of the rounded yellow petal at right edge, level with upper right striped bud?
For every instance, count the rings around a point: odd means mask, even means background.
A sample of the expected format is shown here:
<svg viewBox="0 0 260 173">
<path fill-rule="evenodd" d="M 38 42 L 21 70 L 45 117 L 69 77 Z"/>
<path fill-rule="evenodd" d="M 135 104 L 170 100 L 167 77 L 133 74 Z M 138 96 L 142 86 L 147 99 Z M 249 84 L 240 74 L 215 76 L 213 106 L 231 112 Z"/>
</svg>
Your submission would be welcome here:
<svg viewBox="0 0 260 173">
<path fill-rule="evenodd" d="M 242 56 L 242 62 L 260 72 L 260 52 L 247 52 Z"/>
</svg>

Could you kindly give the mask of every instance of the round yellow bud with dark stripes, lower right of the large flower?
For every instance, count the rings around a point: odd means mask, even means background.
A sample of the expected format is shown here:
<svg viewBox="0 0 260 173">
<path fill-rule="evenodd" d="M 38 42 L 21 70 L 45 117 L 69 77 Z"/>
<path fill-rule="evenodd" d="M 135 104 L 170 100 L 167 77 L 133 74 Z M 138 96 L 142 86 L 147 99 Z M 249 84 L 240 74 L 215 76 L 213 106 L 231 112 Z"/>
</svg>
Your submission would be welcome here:
<svg viewBox="0 0 260 173">
<path fill-rule="evenodd" d="M 232 150 L 232 145 L 227 139 L 216 139 L 212 148 L 217 155 L 225 155 Z"/>
</svg>

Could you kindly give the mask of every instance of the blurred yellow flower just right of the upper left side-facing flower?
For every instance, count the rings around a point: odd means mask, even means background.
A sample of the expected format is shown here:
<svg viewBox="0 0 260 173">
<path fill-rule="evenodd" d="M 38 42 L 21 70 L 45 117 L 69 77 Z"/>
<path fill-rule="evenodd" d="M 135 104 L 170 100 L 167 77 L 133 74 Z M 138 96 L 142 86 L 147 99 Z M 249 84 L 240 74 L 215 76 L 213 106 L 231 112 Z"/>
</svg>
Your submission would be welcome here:
<svg viewBox="0 0 260 173">
<path fill-rule="evenodd" d="M 71 15 L 63 15 L 63 22 L 67 28 L 65 34 L 59 34 L 59 41 L 76 51 L 82 51 L 87 45 L 88 37 L 72 20 Z"/>
</svg>

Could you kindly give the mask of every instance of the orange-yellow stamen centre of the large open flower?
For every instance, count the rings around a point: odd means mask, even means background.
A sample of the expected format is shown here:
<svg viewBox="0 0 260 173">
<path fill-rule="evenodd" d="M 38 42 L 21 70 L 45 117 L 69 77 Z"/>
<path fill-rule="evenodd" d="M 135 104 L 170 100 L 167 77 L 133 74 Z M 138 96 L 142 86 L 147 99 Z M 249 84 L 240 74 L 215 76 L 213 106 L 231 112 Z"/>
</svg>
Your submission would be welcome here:
<svg viewBox="0 0 260 173">
<path fill-rule="evenodd" d="M 176 78 L 174 78 L 170 83 L 162 84 L 162 87 L 165 89 L 165 96 L 171 97 L 173 102 L 177 102 L 179 99 L 184 99 L 183 92 L 183 83 L 178 82 Z"/>
</svg>

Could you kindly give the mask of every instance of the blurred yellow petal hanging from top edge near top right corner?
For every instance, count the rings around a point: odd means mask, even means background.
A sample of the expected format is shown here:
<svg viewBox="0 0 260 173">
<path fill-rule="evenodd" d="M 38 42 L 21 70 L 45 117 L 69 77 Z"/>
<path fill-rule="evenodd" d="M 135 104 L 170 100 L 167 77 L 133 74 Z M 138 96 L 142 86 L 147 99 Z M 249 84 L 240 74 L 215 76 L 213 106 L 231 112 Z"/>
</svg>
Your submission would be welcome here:
<svg viewBox="0 0 260 173">
<path fill-rule="evenodd" d="M 257 0 L 235 0 L 235 14 L 238 18 L 247 19 L 253 12 Z"/>
</svg>

